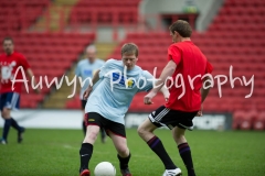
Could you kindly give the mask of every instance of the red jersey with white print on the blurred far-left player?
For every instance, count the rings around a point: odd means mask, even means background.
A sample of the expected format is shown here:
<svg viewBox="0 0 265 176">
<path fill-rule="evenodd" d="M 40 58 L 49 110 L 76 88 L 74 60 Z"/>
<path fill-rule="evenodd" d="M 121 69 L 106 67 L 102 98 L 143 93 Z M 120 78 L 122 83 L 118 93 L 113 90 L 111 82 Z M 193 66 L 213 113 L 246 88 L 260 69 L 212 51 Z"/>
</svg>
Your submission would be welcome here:
<svg viewBox="0 0 265 176">
<path fill-rule="evenodd" d="M 22 70 L 17 69 L 22 66 Z M 26 69 L 30 68 L 30 65 L 25 57 L 17 52 L 13 52 L 11 55 L 2 54 L 0 55 L 0 72 L 1 72 L 1 81 L 0 81 L 0 94 L 14 91 L 20 94 L 23 82 L 14 82 L 12 90 L 12 81 L 14 79 L 22 79 L 22 72 L 26 74 Z"/>
</svg>

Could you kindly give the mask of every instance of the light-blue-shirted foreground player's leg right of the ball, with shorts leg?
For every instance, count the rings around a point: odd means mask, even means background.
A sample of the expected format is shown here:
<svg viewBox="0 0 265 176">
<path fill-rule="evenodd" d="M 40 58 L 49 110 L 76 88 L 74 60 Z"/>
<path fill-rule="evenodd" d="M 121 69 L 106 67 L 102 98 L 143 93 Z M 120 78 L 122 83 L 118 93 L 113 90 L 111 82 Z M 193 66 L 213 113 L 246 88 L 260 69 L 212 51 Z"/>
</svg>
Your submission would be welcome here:
<svg viewBox="0 0 265 176">
<path fill-rule="evenodd" d="M 119 168 L 123 176 L 131 176 L 129 170 L 130 152 L 127 146 L 125 125 L 109 120 L 107 121 L 107 133 L 113 140 L 114 146 L 117 150 L 119 160 Z"/>
</svg>

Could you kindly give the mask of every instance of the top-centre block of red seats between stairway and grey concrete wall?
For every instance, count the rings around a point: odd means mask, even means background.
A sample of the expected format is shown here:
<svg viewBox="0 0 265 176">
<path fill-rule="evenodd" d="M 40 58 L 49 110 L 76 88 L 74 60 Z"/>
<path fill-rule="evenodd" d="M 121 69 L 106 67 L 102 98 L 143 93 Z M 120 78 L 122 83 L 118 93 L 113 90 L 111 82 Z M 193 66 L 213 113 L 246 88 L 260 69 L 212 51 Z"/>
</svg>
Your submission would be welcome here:
<svg viewBox="0 0 265 176">
<path fill-rule="evenodd" d="M 93 21 L 108 25 L 115 21 L 124 25 L 137 23 L 139 1 L 81 0 L 72 9 L 71 23 L 91 23 Z"/>
</svg>

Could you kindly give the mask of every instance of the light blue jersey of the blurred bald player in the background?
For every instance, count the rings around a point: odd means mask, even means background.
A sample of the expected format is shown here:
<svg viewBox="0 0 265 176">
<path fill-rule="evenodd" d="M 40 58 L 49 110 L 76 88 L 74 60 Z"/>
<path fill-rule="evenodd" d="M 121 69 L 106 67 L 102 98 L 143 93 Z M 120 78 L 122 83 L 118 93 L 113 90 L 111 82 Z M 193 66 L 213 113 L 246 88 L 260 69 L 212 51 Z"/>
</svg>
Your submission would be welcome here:
<svg viewBox="0 0 265 176">
<path fill-rule="evenodd" d="M 86 79 L 84 82 L 84 86 L 81 88 L 81 92 L 80 92 L 81 99 L 83 99 L 83 94 L 89 85 L 88 78 L 91 78 L 92 80 L 94 73 L 97 69 L 99 69 L 104 65 L 104 63 L 105 63 L 104 61 L 98 58 L 93 64 L 91 64 L 87 58 L 78 62 L 77 67 L 75 69 L 75 75 L 82 77 L 83 81 Z"/>
</svg>

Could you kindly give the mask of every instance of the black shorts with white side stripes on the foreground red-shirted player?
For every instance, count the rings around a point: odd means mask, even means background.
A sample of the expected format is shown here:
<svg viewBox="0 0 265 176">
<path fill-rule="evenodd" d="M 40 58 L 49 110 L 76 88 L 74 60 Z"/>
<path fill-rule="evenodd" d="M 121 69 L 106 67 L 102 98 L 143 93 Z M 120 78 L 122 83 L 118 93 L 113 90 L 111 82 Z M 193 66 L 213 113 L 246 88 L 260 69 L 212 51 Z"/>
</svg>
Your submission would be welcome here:
<svg viewBox="0 0 265 176">
<path fill-rule="evenodd" d="M 148 117 L 150 121 L 158 128 L 168 127 L 172 130 L 174 127 L 181 129 L 192 130 L 192 119 L 197 116 L 198 111 L 184 112 L 178 110 L 170 110 L 165 106 L 161 106 L 157 110 L 152 111 Z"/>
</svg>

